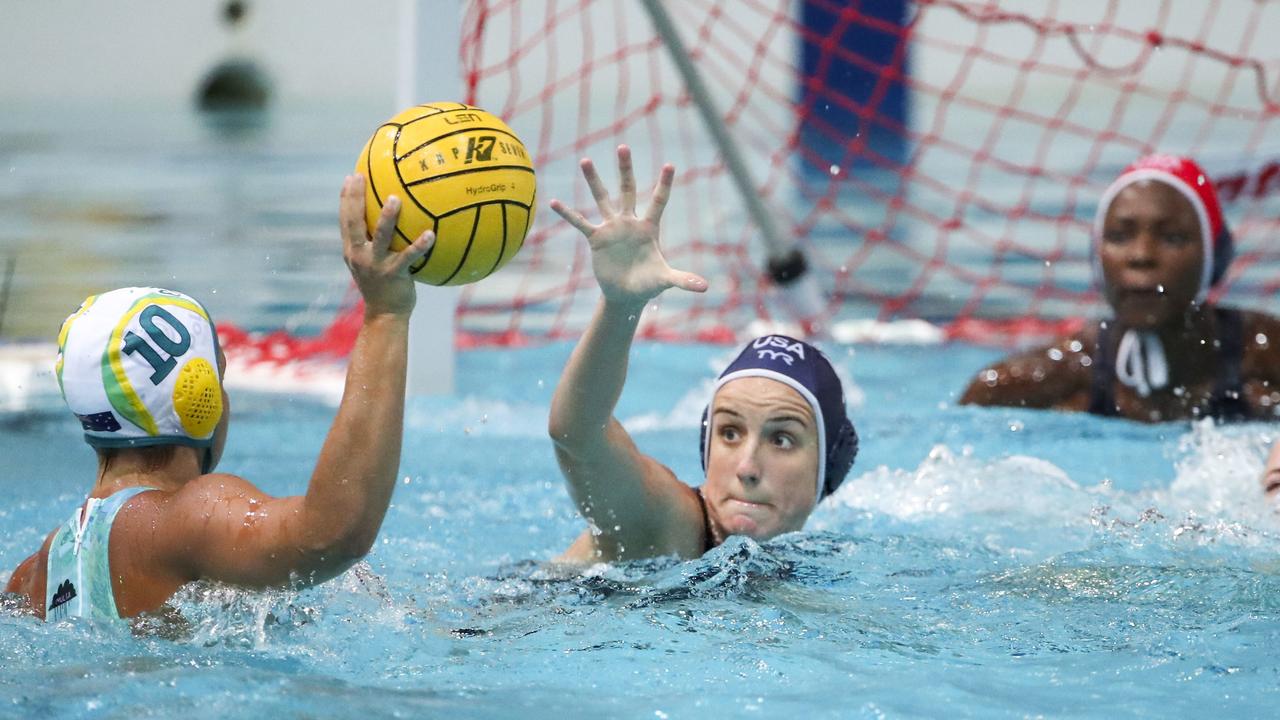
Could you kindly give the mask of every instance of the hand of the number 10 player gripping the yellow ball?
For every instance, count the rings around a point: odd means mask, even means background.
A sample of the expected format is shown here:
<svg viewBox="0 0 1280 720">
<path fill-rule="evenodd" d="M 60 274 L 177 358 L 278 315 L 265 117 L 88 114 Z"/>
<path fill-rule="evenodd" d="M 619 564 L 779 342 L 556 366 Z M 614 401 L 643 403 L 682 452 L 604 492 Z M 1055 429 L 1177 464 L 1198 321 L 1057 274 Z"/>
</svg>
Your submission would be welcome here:
<svg viewBox="0 0 1280 720">
<path fill-rule="evenodd" d="M 408 273 L 435 242 L 435 233 L 428 231 L 399 252 L 392 250 L 396 219 L 399 217 L 399 199 L 390 196 L 383 204 L 378 227 L 369 233 L 365 223 L 365 177 L 349 176 L 342 183 L 338 208 L 338 225 L 342 228 L 342 255 L 351 269 L 366 314 L 407 314 L 413 310 L 417 295 L 413 278 Z"/>
</svg>

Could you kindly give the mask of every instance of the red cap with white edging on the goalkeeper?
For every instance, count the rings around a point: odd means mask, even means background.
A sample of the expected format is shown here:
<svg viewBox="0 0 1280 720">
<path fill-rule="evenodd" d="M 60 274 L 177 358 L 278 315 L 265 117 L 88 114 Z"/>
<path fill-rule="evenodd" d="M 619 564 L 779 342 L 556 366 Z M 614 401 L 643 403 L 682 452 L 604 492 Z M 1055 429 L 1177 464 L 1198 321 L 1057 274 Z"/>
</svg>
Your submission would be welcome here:
<svg viewBox="0 0 1280 720">
<path fill-rule="evenodd" d="M 1210 288 L 1226 274 L 1226 268 L 1235 256 L 1235 242 L 1222 217 L 1222 206 L 1217 201 L 1213 183 L 1190 158 L 1148 155 L 1125 168 L 1098 201 L 1098 210 L 1093 217 L 1093 242 L 1101 242 L 1103 220 L 1120 191 L 1142 181 L 1158 181 L 1172 187 L 1196 209 L 1201 225 L 1201 245 L 1204 249 L 1204 264 L 1196 302 L 1203 304 Z M 1097 247 L 1093 254 L 1093 269 L 1101 279 L 1102 265 L 1096 250 Z"/>
</svg>

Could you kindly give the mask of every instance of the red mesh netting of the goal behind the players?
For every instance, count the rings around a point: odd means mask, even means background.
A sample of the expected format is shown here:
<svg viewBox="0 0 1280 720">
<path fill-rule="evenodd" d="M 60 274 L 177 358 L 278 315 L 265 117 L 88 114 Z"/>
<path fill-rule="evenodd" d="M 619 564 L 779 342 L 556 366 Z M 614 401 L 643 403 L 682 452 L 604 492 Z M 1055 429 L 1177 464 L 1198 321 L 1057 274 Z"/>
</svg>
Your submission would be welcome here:
<svg viewBox="0 0 1280 720">
<path fill-rule="evenodd" d="M 663 3 L 753 193 L 806 255 L 828 327 L 923 318 L 952 337 L 1007 338 L 1097 315 L 1096 200 L 1153 151 L 1198 159 L 1220 187 L 1238 256 L 1219 295 L 1271 302 L 1276 4 L 920 0 L 884 14 L 892 5 Z M 577 160 L 616 187 L 623 142 L 641 188 L 676 165 L 664 250 L 712 286 L 666 292 L 641 336 L 728 340 L 790 319 L 742 192 L 641 3 L 465 8 L 465 100 L 520 133 L 539 200 L 521 254 L 461 291 L 463 346 L 581 332 L 599 291 L 584 238 L 547 200 L 591 218 Z"/>
</svg>

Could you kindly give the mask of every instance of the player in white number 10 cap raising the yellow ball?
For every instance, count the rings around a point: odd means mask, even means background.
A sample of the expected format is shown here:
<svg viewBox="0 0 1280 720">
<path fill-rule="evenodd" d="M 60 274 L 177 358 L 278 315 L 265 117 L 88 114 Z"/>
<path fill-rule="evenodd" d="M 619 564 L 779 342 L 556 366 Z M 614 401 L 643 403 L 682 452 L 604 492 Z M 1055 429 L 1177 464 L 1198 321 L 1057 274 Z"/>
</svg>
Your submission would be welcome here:
<svg viewBox="0 0 1280 720">
<path fill-rule="evenodd" d="M 56 372 L 97 473 L 5 589 L 46 620 L 132 618 L 196 580 L 306 587 L 364 557 L 399 470 L 410 265 L 434 240 L 393 251 L 399 206 L 388 197 L 370 234 L 365 179 L 343 183 L 343 258 L 365 315 L 305 495 L 271 497 L 215 471 L 230 423 L 227 359 L 200 302 L 137 287 L 84 300 L 59 333 Z"/>
</svg>

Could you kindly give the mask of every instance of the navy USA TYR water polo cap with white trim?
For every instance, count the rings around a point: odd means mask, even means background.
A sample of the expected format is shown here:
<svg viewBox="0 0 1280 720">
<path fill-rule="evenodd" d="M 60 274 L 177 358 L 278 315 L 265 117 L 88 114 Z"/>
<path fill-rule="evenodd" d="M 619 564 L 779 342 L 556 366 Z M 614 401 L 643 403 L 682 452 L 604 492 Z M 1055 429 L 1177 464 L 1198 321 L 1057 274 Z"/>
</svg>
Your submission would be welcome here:
<svg viewBox="0 0 1280 720">
<path fill-rule="evenodd" d="M 786 384 L 800 393 L 809 404 L 818 424 L 818 500 L 836 492 L 845 475 L 854 466 L 858 456 L 858 430 L 845 414 L 845 389 L 840 384 L 836 369 L 817 347 L 792 337 L 771 334 L 753 340 L 742 348 L 737 359 L 721 373 L 712 392 L 714 398 L 724 383 L 739 378 L 769 378 Z M 703 411 L 701 437 L 699 450 L 703 457 L 703 471 L 710 443 L 710 406 Z"/>
</svg>

